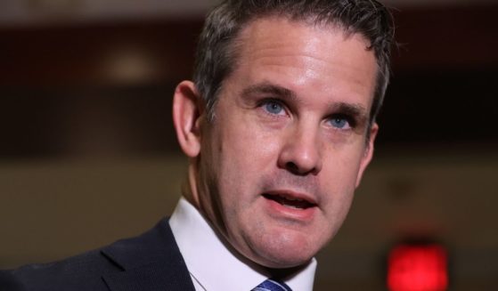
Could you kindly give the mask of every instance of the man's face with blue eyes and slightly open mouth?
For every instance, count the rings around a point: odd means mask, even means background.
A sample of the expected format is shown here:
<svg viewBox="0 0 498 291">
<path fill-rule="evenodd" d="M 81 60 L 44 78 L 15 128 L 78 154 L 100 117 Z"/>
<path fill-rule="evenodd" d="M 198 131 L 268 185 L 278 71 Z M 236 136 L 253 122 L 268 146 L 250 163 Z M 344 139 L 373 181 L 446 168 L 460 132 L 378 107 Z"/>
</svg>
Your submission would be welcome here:
<svg viewBox="0 0 498 291">
<path fill-rule="evenodd" d="M 339 230 L 370 161 L 375 57 L 362 36 L 282 18 L 240 40 L 200 127 L 198 207 L 250 260 L 297 266 Z"/>
</svg>

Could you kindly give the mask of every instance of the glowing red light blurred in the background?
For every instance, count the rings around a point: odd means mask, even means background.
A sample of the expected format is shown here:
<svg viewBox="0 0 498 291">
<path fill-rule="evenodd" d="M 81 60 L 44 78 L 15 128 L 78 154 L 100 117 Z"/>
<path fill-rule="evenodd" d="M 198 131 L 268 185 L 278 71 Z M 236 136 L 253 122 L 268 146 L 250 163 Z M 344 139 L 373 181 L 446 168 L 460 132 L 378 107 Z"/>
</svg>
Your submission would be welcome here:
<svg viewBox="0 0 498 291">
<path fill-rule="evenodd" d="M 390 291 L 443 291 L 448 287 L 447 255 L 437 245 L 402 245 L 388 258 Z"/>
</svg>

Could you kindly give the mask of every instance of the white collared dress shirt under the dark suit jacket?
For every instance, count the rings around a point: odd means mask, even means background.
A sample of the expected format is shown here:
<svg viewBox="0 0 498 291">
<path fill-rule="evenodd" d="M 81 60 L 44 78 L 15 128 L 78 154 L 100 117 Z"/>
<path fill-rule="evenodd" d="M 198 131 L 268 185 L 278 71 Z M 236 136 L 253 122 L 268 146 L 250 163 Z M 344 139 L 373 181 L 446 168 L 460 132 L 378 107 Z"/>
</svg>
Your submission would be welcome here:
<svg viewBox="0 0 498 291">
<path fill-rule="evenodd" d="M 250 291 L 270 276 L 264 268 L 245 262 L 225 247 L 204 216 L 185 198 L 180 198 L 169 225 L 196 291 Z M 313 258 L 285 283 L 293 291 L 312 291 L 315 269 Z"/>
</svg>

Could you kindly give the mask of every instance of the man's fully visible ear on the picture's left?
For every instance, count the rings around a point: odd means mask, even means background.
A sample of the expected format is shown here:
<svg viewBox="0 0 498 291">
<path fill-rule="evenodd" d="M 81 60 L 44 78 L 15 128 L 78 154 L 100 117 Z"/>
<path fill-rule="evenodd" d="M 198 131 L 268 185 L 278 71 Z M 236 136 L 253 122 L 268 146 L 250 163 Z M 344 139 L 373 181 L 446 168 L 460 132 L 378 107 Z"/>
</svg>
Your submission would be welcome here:
<svg viewBox="0 0 498 291">
<path fill-rule="evenodd" d="M 191 81 L 176 86 L 173 96 L 173 123 L 180 148 L 189 158 L 200 153 L 200 94 Z"/>
</svg>

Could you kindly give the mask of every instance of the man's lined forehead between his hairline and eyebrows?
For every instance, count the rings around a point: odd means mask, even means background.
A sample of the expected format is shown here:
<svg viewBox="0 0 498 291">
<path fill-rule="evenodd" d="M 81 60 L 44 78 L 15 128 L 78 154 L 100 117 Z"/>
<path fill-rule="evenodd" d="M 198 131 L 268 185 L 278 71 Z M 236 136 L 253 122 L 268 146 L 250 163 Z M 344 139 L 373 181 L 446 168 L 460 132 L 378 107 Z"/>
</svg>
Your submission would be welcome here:
<svg viewBox="0 0 498 291">
<path fill-rule="evenodd" d="M 258 69 L 257 74 L 278 70 L 292 74 L 292 85 L 296 86 L 301 80 L 337 73 L 343 76 L 340 80 L 347 78 L 358 86 L 373 87 L 375 83 L 374 53 L 367 50 L 363 36 L 347 36 L 341 28 L 320 28 L 295 20 L 265 18 L 251 23 L 241 33 L 239 45 L 233 70 Z M 298 74 L 303 77 L 298 78 Z M 323 81 L 322 85 L 327 85 L 326 80 Z"/>
</svg>

